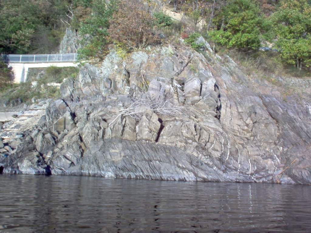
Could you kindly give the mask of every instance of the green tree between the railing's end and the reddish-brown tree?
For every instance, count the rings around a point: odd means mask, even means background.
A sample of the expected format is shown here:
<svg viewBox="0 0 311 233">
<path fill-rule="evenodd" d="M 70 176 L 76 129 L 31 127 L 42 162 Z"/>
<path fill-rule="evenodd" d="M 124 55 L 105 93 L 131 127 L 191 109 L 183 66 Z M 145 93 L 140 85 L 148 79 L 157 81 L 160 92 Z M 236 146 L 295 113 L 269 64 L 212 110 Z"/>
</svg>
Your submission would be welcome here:
<svg viewBox="0 0 311 233">
<path fill-rule="evenodd" d="M 84 44 L 78 51 L 81 60 L 100 60 L 106 54 L 109 20 L 118 9 L 117 3 L 117 0 L 94 0 L 91 3 L 91 14 L 82 20 L 79 29 Z"/>
</svg>

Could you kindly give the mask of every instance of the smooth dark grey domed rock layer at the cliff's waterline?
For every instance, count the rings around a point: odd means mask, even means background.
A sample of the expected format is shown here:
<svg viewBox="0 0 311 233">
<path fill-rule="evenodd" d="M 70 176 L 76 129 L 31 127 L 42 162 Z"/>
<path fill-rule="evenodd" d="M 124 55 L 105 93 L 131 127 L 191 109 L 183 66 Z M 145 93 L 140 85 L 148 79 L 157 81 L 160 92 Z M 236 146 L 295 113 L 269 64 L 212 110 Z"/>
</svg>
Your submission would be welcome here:
<svg viewBox="0 0 311 233">
<path fill-rule="evenodd" d="M 81 164 L 82 167 L 72 167 L 67 174 L 155 180 L 221 180 L 204 162 L 176 147 L 120 139 L 94 144 L 83 156 Z"/>
</svg>

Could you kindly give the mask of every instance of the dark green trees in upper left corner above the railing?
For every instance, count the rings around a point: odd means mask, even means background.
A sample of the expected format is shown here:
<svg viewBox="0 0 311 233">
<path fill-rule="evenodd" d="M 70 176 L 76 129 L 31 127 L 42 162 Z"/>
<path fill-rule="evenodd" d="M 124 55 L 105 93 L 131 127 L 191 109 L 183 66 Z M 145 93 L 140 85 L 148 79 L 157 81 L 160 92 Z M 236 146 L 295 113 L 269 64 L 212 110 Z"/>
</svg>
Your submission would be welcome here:
<svg viewBox="0 0 311 233">
<path fill-rule="evenodd" d="M 66 4 L 67 0 L 1 0 L 0 53 L 28 53 L 34 37 L 59 28 Z"/>
</svg>

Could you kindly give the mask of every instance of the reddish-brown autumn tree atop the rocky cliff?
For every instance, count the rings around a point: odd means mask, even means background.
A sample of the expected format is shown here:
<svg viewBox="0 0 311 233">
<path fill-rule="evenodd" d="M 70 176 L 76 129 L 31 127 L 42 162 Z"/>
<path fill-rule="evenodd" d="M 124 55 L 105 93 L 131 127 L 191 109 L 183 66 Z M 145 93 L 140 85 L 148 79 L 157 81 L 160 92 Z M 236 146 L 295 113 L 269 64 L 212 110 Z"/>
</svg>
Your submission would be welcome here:
<svg viewBox="0 0 311 233">
<path fill-rule="evenodd" d="M 127 1 L 121 3 L 119 11 L 114 13 L 108 33 L 112 41 L 132 48 L 145 48 L 160 42 L 154 21 L 138 1 Z"/>
</svg>

